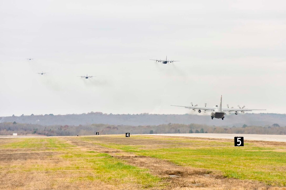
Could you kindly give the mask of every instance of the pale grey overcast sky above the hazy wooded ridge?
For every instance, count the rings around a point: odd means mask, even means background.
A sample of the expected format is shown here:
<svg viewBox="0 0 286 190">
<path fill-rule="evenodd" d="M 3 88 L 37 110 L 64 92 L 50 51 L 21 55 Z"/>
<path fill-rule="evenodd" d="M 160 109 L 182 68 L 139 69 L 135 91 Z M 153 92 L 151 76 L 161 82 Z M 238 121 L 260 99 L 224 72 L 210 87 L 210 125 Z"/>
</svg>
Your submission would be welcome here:
<svg viewBox="0 0 286 190">
<path fill-rule="evenodd" d="M 285 7 L 1 0 L 0 116 L 185 114 L 170 105 L 215 106 L 221 95 L 223 106 L 285 114 Z M 166 55 L 180 62 L 149 60 Z"/>
</svg>

